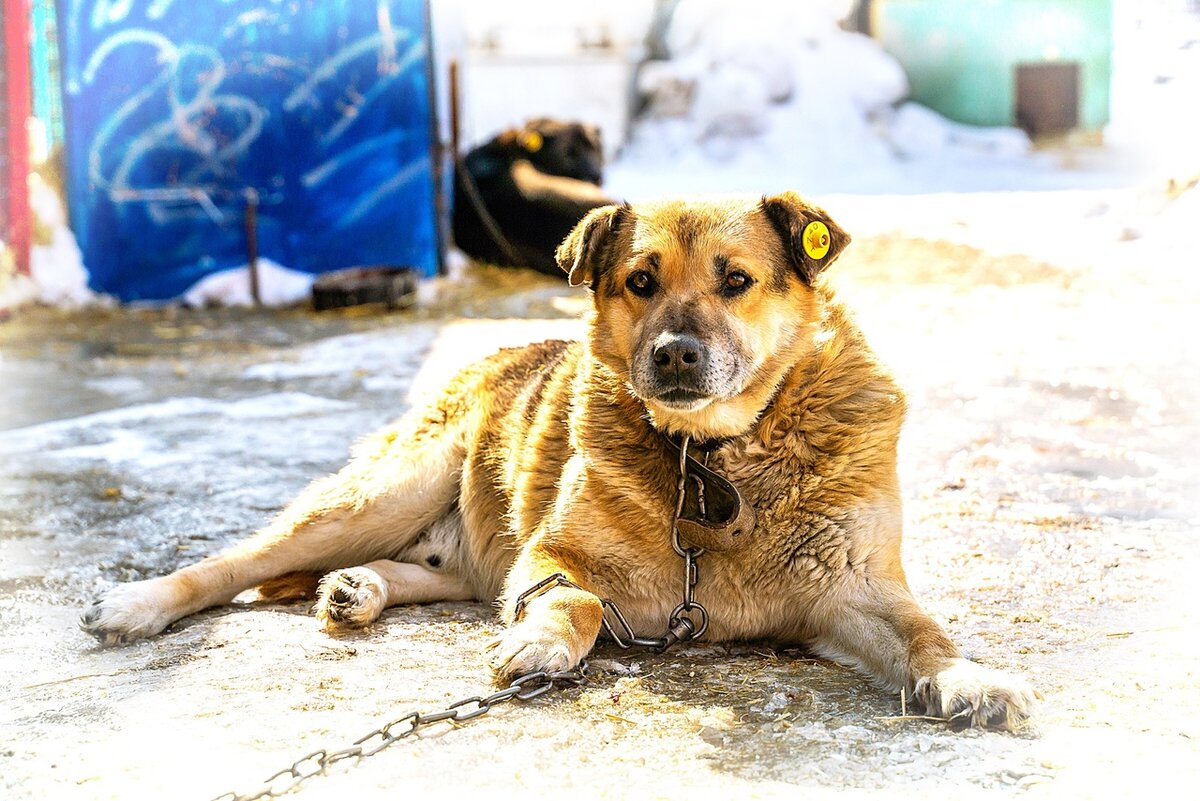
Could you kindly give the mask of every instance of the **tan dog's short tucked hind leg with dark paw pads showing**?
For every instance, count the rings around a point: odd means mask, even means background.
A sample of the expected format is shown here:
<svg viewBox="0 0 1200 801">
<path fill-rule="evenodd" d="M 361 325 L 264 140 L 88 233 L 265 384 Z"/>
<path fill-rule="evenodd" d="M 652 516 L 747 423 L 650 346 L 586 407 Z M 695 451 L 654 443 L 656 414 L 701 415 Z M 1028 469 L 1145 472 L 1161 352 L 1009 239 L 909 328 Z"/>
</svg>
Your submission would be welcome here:
<svg viewBox="0 0 1200 801">
<path fill-rule="evenodd" d="M 379 559 L 329 573 L 317 589 L 317 619 L 326 628 L 374 622 L 388 607 L 434 601 L 473 601 L 475 590 L 460 576 Z"/>
</svg>

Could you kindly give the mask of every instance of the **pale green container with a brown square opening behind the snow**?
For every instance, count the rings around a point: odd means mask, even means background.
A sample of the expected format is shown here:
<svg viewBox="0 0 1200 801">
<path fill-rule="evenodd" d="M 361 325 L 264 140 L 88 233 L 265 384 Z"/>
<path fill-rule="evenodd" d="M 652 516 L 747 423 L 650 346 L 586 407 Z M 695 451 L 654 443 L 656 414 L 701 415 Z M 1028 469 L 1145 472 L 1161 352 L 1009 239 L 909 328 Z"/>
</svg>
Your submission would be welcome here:
<svg viewBox="0 0 1200 801">
<path fill-rule="evenodd" d="M 871 34 L 912 100 L 1031 133 L 1109 121 L 1112 0 L 874 0 Z"/>
</svg>

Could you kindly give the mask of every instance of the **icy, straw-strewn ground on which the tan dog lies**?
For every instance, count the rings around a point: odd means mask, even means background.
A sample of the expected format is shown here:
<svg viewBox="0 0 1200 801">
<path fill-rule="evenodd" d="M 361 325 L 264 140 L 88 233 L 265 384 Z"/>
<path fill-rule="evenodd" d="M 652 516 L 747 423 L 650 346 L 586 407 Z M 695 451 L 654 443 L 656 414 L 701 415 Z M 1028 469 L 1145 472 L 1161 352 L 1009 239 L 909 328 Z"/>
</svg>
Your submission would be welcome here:
<svg viewBox="0 0 1200 801">
<path fill-rule="evenodd" d="M 942 222 L 982 217 L 972 203 L 942 200 Z M 1038 240 L 1072 254 L 1048 261 L 1021 237 L 1004 252 L 886 228 L 864 224 L 832 277 L 910 395 L 906 567 L 970 656 L 1038 686 L 1034 729 L 902 719 L 898 697 L 798 651 L 601 649 L 588 687 L 433 727 L 299 795 L 1200 789 L 1193 248 L 1076 227 L 1070 247 Z M 487 604 L 341 636 L 304 603 L 241 604 L 116 649 L 76 628 L 113 583 L 262 524 L 412 391 L 574 336 L 588 302 L 486 270 L 426 294 L 392 315 L 34 309 L 0 326 L 0 796 L 208 799 L 487 687 Z"/>
</svg>

